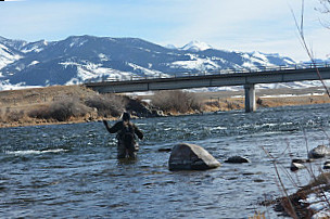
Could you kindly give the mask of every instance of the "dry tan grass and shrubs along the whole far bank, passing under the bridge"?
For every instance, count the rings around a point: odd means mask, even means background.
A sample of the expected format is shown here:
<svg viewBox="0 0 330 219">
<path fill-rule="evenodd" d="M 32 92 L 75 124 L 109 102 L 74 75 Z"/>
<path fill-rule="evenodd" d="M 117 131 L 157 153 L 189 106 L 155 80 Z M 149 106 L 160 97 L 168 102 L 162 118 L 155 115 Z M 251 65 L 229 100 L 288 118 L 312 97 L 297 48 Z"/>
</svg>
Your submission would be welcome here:
<svg viewBox="0 0 330 219">
<path fill-rule="evenodd" d="M 257 90 L 257 108 L 283 105 L 330 103 L 323 95 L 265 98 L 274 94 L 318 93 L 319 88 Z M 156 92 L 152 99 L 156 111 L 172 114 L 217 112 L 244 108 L 243 91 L 191 93 L 182 91 Z M 137 104 L 117 94 L 99 94 L 81 86 L 54 86 L 48 88 L 0 91 L 0 127 L 49 124 L 60 121 L 87 121 L 115 118 L 126 108 L 137 116 L 148 116 L 150 106 Z M 138 107 L 139 105 L 139 107 Z"/>
</svg>

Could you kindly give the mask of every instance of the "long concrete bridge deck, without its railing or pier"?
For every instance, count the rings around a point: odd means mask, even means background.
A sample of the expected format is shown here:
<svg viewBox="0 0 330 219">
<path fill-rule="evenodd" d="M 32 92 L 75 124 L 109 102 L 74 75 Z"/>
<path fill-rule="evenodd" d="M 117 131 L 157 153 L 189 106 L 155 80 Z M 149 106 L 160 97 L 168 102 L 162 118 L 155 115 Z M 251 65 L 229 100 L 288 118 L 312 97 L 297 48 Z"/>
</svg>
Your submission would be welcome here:
<svg viewBox="0 0 330 219">
<path fill-rule="evenodd" d="M 318 68 L 322 79 L 330 79 L 330 66 Z M 315 68 L 280 69 L 256 73 L 191 75 L 170 78 L 147 78 L 139 80 L 101 81 L 85 83 L 99 92 L 134 92 L 150 90 L 175 90 L 203 87 L 245 86 L 302 80 L 319 80 Z"/>
</svg>

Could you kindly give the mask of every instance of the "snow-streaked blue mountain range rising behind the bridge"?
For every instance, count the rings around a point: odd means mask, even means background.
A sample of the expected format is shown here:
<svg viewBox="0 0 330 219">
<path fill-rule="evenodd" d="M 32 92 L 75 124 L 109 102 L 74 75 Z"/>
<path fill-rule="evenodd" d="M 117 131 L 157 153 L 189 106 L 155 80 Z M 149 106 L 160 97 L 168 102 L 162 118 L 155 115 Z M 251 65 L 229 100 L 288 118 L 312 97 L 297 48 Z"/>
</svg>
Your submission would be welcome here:
<svg viewBox="0 0 330 219">
<path fill-rule="evenodd" d="M 72 36 L 26 42 L 0 37 L 0 90 L 294 63 L 279 54 L 216 50 L 199 41 L 169 49 L 137 38 Z"/>
</svg>

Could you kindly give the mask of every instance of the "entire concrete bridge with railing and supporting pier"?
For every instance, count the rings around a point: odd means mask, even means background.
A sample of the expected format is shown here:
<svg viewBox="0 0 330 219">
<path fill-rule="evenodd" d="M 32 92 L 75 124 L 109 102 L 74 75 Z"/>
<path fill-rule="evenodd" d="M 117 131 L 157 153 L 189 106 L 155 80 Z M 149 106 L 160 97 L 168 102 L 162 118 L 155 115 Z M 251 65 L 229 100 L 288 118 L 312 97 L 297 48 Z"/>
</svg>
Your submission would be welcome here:
<svg viewBox="0 0 330 219">
<path fill-rule="evenodd" d="M 317 73 L 317 69 L 319 74 Z M 243 86 L 245 90 L 245 112 L 256 110 L 255 85 L 278 83 L 302 80 L 330 79 L 330 64 L 264 67 L 262 70 L 218 70 L 186 73 L 173 77 L 130 78 L 120 81 L 88 82 L 86 87 L 100 93 L 124 93 L 136 91 L 175 90 L 204 87 Z M 160 75 L 161 76 L 161 75 Z"/>
</svg>

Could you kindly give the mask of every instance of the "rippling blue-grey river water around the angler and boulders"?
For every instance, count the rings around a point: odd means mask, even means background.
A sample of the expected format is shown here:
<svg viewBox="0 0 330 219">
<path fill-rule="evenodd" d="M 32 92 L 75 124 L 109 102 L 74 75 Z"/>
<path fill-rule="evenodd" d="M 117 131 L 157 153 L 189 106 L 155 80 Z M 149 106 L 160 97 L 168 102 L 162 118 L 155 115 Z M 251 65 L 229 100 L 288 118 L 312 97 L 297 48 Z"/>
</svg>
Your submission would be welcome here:
<svg viewBox="0 0 330 219">
<path fill-rule="evenodd" d="M 102 123 L 0 129 L 0 218 L 276 218 L 258 205 L 282 195 L 263 147 L 294 192 L 290 159 L 329 143 L 329 106 L 136 119 L 145 134 L 136 162 L 116 159 L 115 134 Z M 169 171 L 170 152 L 158 150 L 179 142 L 203 146 L 221 167 Z M 224 163 L 233 155 L 251 163 Z M 300 185 L 310 179 L 289 173 Z"/>
</svg>

